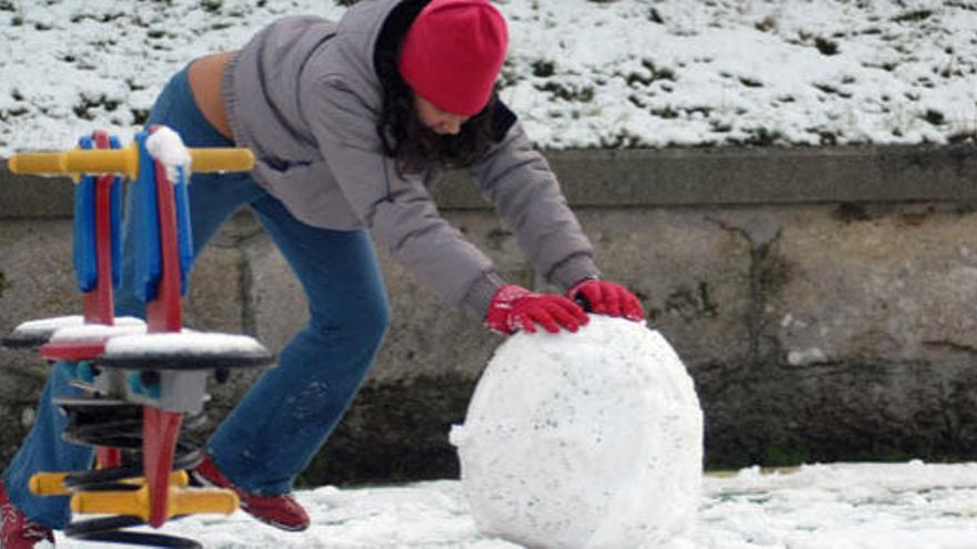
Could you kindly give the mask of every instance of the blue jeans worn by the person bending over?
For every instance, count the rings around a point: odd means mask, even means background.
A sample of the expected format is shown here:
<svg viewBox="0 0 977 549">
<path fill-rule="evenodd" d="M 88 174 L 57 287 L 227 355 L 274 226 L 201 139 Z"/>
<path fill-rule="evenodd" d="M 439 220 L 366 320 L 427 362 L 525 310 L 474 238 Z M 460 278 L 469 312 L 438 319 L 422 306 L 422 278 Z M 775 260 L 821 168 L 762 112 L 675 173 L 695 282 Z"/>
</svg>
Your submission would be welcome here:
<svg viewBox="0 0 977 549">
<path fill-rule="evenodd" d="M 167 84 L 148 123 L 169 125 L 191 148 L 232 146 L 198 109 L 185 70 Z M 239 487 L 260 495 L 284 494 L 339 423 L 383 343 L 390 307 L 376 255 L 365 231 L 306 225 L 245 173 L 194 174 L 189 194 L 194 257 L 221 223 L 246 205 L 305 291 L 309 323 L 207 443 L 218 468 Z M 129 251 L 128 220 L 123 231 L 123 248 Z M 145 306 L 133 287 L 133 265 L 127 261 L 131 257 L 123 253 L 115 314 L 144 316 Z M 66 418 L 51 398 L 73 394 L 69 382 L 66 368 L 52 369 L 34 425 L 3 475 L 13 504 L 51 528 L 70 520 L 67 498 L 36 497 L 28 491 L 28 479 L 41 470 L 83 470 L 93 454 L 90 447 L 61 439 Z"/>
</svg>

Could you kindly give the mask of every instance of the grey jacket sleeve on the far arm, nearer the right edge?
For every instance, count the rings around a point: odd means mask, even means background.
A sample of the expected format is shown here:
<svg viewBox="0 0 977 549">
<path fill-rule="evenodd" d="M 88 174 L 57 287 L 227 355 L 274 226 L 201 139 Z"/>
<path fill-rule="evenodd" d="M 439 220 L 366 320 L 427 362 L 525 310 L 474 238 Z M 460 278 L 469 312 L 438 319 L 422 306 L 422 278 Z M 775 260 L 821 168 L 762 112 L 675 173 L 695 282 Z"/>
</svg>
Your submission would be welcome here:
<svg viewBox="0 0 977 549">
<path fill-rule="evenodd" d="M 593 247 L 560 190 L 556 176 L 517 121 L 472 169 L 482 195 L 516 233 L 533 267 L 562 289 L 597 276 Z"/>
</svg>

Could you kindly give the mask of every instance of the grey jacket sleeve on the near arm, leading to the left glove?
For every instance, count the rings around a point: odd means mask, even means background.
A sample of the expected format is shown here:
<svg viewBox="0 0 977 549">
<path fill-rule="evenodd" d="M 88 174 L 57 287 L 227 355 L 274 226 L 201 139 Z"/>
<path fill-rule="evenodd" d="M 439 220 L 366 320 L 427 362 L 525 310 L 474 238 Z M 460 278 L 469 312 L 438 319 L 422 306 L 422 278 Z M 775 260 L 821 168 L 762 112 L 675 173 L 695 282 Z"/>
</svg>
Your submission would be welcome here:
<svg viewBox="0 0 977 549">
<path fill-rule="evenodd" d="M 419 281 L 484 318 L 504 284 L 492 262 L 437 212 L 420 177 L 383 154 L 375 113 L 340 77 L 322 77 L 303 111 L 343 195 L 375 241 Z"/>
</svg>

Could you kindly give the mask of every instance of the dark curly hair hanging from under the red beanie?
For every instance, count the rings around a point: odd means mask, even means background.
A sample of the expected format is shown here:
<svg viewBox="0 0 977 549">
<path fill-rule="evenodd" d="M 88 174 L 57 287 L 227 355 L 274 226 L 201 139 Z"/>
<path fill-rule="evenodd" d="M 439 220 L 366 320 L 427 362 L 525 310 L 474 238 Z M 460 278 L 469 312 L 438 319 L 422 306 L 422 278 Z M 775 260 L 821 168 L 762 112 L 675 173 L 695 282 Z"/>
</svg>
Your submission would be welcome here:
<svg viewBox="0 0 977 549">
<path fill-rule="evenodd" d="M 414 108 L 414 92 L 397 69 L 400 45 L 411 22 L 430 0 L 404 0 L 384 22 L 374 65 L 383 88 L 383 110 L 376 131 L 384 153 L 396 159 L 400 175 L 427 167 L 466 167 L 474 164 L 492 144 L 492 113 L 497 101 L 493 92 L 488 104 L 465 121 L 456 135 L 441 135 L 425 126 Z"/>
</svg>

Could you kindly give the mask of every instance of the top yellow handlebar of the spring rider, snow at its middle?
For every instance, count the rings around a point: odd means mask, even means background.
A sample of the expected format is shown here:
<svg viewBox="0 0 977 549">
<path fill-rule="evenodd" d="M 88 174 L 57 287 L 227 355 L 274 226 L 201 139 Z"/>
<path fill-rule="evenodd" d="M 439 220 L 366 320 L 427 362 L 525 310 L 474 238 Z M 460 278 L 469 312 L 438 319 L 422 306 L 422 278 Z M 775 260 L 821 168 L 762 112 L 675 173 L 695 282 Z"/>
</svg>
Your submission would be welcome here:
<svg viewBox="0 0 977 549">
<path fill-rule="evenodd" d="M 189 149 L 194 172 L 243 172 L 254 166 L 254 155 L 248 149 Z M 139 150 L 135 144 L 125 149 L 74 149 L 64 152 L 18 153 L 10 157 L 12 173 L 39 175 L 75 175 L 118 173 L 130 179 L 139 176 Z"/>
</svg>

